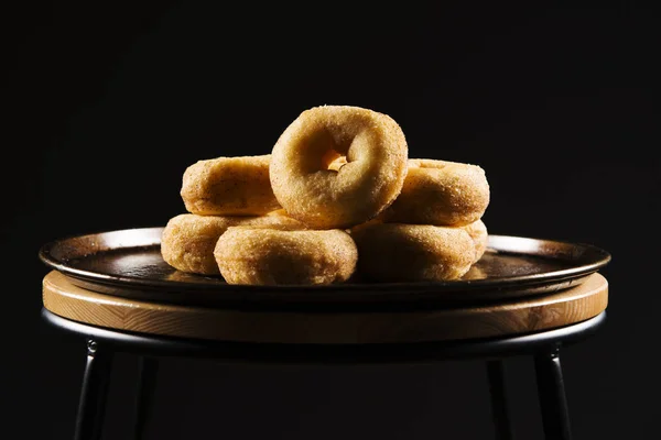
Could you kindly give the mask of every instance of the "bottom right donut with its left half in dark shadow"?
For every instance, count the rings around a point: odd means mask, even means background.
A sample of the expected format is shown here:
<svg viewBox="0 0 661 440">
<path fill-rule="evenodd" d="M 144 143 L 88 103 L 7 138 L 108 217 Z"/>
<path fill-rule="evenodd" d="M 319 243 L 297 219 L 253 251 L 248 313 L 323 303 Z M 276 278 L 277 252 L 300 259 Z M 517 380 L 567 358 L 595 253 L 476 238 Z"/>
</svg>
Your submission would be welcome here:
<svg viewBox="0 0 661 440">
<path fill-rule="evenodd" d="M 463 228 L 365 223 L 351 229 L 357 271 L 371 282 L 459 279 L 475 260 L 475 243 Z"/>
</svg>

